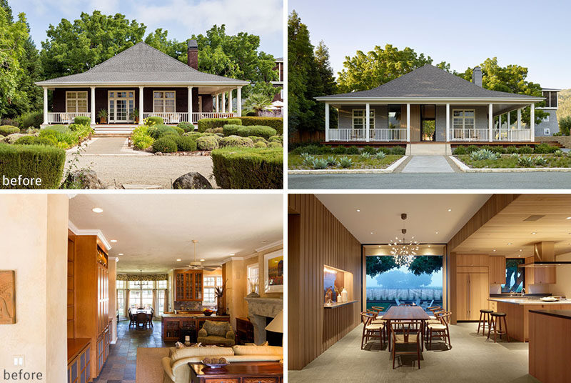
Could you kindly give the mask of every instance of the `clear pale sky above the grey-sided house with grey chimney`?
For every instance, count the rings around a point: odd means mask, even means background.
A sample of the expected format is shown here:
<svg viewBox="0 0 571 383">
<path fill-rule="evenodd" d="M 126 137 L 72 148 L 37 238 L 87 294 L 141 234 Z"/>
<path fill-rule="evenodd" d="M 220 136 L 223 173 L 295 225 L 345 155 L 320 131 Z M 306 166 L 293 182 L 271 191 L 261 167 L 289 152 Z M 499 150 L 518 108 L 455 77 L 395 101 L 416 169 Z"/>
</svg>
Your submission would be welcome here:
<svg viewBox="0 0 571 383">
<path fill-rule="evenodd" d="M 544 87 L 571 88 L 571 1 L 289 0 L 314 45 L 328 46 L 335 73 L 345 56 L 375 45 L 410 46 L 465 71 L 487 57 L 529 69 Z"/>
</svg>

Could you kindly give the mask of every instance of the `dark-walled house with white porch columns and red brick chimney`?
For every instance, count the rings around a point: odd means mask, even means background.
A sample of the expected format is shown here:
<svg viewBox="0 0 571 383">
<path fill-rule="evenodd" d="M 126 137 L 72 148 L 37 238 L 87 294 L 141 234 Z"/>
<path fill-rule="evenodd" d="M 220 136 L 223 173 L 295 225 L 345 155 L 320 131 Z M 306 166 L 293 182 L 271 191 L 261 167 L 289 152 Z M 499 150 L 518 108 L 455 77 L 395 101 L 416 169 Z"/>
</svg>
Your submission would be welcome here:
<svg viewBox="0 0 571 383">
<path fill-rule="evenodd" d="M 188 65 L 140 42 L 84 73 L 36 82 L 44 88 L 42 126 L 71 123 L 76 116 L 89 116 L 96 124 L 101 109 L 108 124 L 132 124 L 134 109 L 139 124 L 148 116 L 161 116 L 166 124 L 241 116 L 241 88 L 247 84 L 198 71 L 196 40 L 188 41 Z M 54 94 L 51 111 L 48 90 Z M 233 112 L 228 101 L 235 90 Z"/>
</svg>

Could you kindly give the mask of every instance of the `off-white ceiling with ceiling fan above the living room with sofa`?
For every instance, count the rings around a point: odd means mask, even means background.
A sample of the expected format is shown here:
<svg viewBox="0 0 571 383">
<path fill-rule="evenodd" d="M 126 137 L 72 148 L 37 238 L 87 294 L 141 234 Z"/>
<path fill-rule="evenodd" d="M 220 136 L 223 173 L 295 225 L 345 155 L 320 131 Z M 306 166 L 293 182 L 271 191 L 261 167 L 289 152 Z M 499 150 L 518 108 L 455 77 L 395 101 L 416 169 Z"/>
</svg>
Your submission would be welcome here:
<svg viewBox="0 0 571 383">
<path fill-rule="evenodd" d="M 192 239 L 204 264 L 283 240 L 283 195 L 78 194 L 69 202 L 69 219 L 117 240 L 109 256 L 119 258 L 119 272 L 167 272 L 193 260 Z"/>
</svg>

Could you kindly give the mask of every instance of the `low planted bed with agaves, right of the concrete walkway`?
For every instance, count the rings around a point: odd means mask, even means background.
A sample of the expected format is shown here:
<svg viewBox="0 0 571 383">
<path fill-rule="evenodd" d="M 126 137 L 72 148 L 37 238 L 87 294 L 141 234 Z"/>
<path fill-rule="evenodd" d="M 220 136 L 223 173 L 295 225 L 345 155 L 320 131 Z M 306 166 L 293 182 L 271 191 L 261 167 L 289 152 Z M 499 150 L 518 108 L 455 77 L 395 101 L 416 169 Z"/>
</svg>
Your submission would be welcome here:
<svg viewBox="0 0 571 383">
<path fill-rule="evenodd" d="M 475 160 L 469 155 L 455 156 L 472 169 L 515 169 L 515 168 L 565 168 L 571 167 L 571 156 L 554 154 L 520 154 L 519 157 L 510 154 L 502 154 L 498 159 Z M 522 158 L 531 159 L 531 162 L 522 161 Z M 545 164 L 537 164 L 537 159 L 545 159 Z"/>
</svg>

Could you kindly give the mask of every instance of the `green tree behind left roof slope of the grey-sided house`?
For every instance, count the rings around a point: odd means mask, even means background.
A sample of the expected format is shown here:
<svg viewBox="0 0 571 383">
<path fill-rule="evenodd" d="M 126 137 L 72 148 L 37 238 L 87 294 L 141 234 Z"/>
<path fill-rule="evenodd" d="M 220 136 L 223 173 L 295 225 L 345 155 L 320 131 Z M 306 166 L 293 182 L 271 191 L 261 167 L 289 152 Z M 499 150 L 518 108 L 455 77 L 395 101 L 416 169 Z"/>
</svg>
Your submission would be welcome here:
<svg viewBox="0 0 571 383">
<path fill-rule="evenodd" d="M 386 44 L 385 49 L 375 46 L 367 54 L 357 51 L 353 57 L 345 56 L 343 70 L 339 72 L 338 90 L 348 93 L 373 89 L 420 66 L 432 63 L 430 56 L 417 54 L 408 47 L 399 50 L 391 44 Z M 450 71 L 450 64 L 444 61 L 437 66 Z"/>
</svg>

